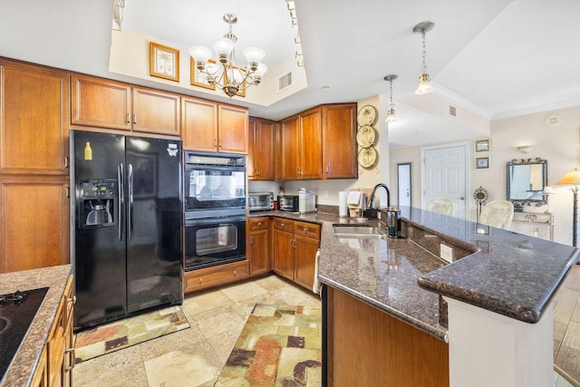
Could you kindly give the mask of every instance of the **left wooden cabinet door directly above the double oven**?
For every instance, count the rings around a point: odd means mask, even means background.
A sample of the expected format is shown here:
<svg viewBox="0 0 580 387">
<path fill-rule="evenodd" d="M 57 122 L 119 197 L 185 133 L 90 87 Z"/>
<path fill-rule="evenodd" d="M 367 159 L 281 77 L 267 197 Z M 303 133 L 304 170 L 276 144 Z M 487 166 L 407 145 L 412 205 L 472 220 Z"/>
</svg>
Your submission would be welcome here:
<svg viewBox="0 0 580 387">
<path fill-rule="evenodd" d="M 218 103 L 182 98 L 181 127 L 184 150 L 218 151 Z"/>
</svg>

